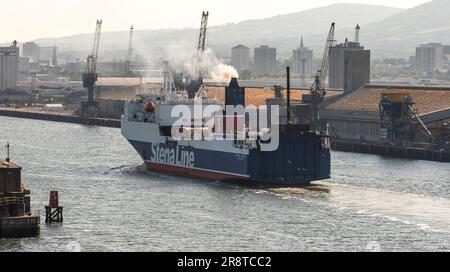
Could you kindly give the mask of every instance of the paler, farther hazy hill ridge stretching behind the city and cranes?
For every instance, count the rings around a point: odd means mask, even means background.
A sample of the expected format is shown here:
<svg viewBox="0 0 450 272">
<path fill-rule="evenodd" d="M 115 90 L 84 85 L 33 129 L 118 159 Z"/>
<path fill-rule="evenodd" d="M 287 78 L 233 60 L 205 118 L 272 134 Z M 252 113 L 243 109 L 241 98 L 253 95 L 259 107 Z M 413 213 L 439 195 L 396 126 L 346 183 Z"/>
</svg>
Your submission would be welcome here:
<svg viewBox="0 0 450 272">
<path fill-rule="evenodd" d="M 367 25 L 383 21 L 401 11 L 401 9 L 384 6 L 335 4 L 267 19 L 210 27 L 208 45 L 220 56 L 228 56 L 230 48 L 238 43 L 249 47 L 268 44 L 276 46 L 281 57 L 288 57 L 291 50 L 300 43 L 301 35 L 305 36 L 306 45 L 316 49 L 322 48 L 324 36 L 331 22 L 336 22 L 338 31 L 352 29 L 357 23 Z M 350 30 L 348 32 L 350 33 Z M 137 52 L 150 58 L 167 57 L 166 55 L 171 55 L 171 52 L 167 51 L 180 51 L 181 48 L 187 51 L 193 50 L 197 34 L 198 30 L 195 29 L 136 31 L 135 47 Z M 40 43 L 53 45 L 55 42 L 60 51 L 83 51 L 79 52 L 81 57 L 90 49 L 92 36 L 92 34 L 80 34 L 58 39 L 40 39 Z M 125 52 L 127 42 L 128 32 L 103 33 L 101 50 Z M 121 54 L 114 56 L 113 53 L 105 52 L 103 58 L 105 56 L 106 58 L 120 57 Z"/>
</svg>

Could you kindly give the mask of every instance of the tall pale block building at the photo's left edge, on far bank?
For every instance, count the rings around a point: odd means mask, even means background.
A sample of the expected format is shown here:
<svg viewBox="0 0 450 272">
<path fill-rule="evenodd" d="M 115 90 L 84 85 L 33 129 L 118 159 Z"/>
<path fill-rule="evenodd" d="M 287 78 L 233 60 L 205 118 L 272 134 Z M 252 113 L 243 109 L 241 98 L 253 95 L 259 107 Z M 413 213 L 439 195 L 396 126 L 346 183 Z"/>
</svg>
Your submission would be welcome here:
<svg viewBox="0 0 450 272">
<path fill-rule="evenodd" d="M 14 90 L 19 73 L 19 48 L 14 42 L 11 47 L 0 47 L 0 91 Z"/>
</svg>

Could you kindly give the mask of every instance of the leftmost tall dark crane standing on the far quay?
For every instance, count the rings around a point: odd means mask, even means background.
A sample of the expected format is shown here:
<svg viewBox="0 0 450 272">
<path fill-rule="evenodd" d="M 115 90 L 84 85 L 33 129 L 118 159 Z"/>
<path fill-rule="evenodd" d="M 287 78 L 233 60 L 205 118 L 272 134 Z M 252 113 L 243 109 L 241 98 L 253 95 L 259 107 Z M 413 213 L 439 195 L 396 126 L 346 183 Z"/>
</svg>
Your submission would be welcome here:
<svg viewBox="0 0 450 272">
<path fill-rule="evenodd" d="M 88 89 L 87 108 L 94 105 L 94 86 L 95 82 L 97 82 L 97 59 L 101 32 L 102 20 L 97 20 L 97 24 L 95 27 L 94 46 L 92 48 L 92 53 L 87 58 L 86 72 L 83 74 L 83 87 Z"/>
</svg>

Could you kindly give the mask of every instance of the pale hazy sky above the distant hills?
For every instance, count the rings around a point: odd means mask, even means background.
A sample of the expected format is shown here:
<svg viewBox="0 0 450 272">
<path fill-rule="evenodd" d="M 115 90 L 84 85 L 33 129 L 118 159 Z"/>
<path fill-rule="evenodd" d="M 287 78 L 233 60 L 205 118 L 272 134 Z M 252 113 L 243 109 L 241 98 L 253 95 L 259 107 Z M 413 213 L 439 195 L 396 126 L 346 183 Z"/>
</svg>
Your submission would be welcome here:
<svg viewBox="0 0 450 272">
<path fill-rule="evenodd" d="M 0 41 L 27 41 L 103 30 L 198 27 L 201 11 L 210 25 L 265 18 L 334 3 L 409 8 L 430 0 L 14 0 L 1 4 Z"/>
</svg>

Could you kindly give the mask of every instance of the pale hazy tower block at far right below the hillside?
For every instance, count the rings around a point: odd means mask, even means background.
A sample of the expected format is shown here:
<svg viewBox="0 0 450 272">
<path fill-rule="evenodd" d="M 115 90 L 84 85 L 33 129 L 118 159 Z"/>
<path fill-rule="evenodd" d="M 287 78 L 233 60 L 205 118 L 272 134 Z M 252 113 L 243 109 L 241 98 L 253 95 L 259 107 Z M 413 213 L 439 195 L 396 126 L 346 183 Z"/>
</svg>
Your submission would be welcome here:
<svg viewBox="0 0 450 272">
<path fill-rule="evenodd" d="M 422 44 L 416 48 L 416 71 L 433 72 L 442 69 L 444 47 L 440 43 Z"/>
</svg>

